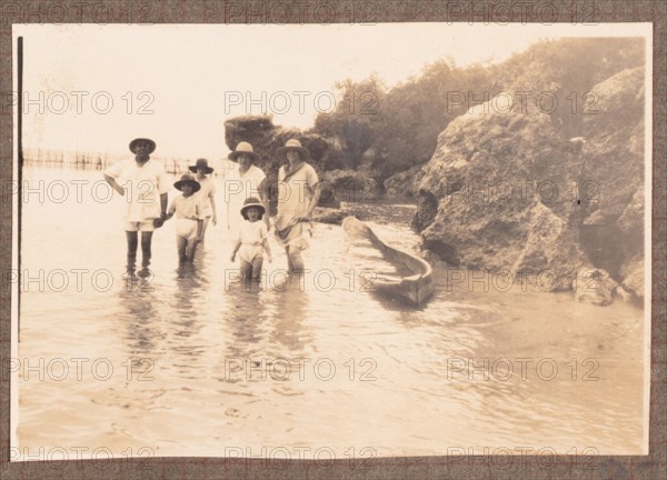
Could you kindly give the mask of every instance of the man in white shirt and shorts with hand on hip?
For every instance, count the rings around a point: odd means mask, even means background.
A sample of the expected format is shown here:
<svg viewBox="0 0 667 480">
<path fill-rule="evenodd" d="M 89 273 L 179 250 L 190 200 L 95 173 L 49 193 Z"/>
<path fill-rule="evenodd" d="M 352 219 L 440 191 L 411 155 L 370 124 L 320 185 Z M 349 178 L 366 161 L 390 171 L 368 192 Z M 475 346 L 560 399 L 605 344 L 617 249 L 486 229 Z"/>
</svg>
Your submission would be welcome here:
<svg viewBox="0 0 667 480">
<path fill-rule="evenodd" d="M 129 276 L 135 274 L 138 231 L 141 231 L 142 267 L 139 276 L 148 277 L 150 274 L 148 267 L 150 266 L 152 232 L 162 226 L 167 217 L 167 192 L 170 186 L 162 163 L 150 159 L 150 154 L 155 150 L 155 141 L 143 138 L 135 139 L 130 142 L 130 151 L 135 153 L 135 158 L 121 160 L 102 173 L 111 188 L 127 198 L 126 237 Z"/>
</svg>

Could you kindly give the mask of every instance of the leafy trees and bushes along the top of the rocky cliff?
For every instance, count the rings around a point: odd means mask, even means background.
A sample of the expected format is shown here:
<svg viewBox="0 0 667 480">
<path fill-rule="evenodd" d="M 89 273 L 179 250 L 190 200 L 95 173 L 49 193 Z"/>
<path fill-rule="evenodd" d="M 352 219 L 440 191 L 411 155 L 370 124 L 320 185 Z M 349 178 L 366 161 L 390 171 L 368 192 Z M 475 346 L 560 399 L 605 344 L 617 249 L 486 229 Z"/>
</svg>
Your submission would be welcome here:
<svg viewBox="0 0 667 480">
<path fill-rule="evenodd" d="M 641 38 L 541 41 L 487 67 L 458 68 L 441 60 L 390 90 L 375 76 L 340 82 L 336 110 L 319 114 L 311 131 L 337 139 L 346 151 L 348 168 L 356 169 L 361 158 L 372 152 L 374 167 L 384 179 L 427 162 L 438 134 L 451 120 L 500 91 L 531 92 L 529 101 L 542 92 L 555 97 L 554 126 L 565 138 L 578 137 L 584 108 L 595 108 L 590 89 L 643 63 Z M 465 101 L 454 102 L 454 94 Z"/>
</svg>

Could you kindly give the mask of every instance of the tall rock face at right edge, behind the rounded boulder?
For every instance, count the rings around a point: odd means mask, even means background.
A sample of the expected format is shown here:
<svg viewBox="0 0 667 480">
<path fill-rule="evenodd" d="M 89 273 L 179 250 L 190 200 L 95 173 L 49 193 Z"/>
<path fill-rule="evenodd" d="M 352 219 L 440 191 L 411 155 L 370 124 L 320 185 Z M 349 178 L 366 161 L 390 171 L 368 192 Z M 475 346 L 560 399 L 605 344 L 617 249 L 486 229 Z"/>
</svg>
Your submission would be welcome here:
<svg viewBox="0 0 667 480">
<path fill-rule="evenodd" d="M 644 296 L 644 68 L 595 86 L 595 114 L 584 117 L 583 201 L 589 202 L 581 244 L 596 266 Z M 594 253 L 595 252 L 595 253 Z"/>
</svg>

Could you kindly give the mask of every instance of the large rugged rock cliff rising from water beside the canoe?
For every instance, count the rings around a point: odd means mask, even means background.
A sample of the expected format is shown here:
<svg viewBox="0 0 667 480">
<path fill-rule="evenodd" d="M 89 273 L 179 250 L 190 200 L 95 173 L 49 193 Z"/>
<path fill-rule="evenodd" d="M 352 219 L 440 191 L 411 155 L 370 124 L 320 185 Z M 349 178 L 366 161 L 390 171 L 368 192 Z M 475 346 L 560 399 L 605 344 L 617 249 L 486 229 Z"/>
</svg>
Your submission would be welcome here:
<svg viewBox="0 0 667 480">
<path fill-rule="evenodd" d="M 451 121 L 415 184 L 424 247 L 456 267 L 541 276 L 552 290 L 579 279 L 577 293 L 599 304 L 617 282 L 641 297 L 644 70 L 591 91 L 583 139 L 492 102 Z M 595 291 L 581 290 L 586 279 Z"/>
</svg>

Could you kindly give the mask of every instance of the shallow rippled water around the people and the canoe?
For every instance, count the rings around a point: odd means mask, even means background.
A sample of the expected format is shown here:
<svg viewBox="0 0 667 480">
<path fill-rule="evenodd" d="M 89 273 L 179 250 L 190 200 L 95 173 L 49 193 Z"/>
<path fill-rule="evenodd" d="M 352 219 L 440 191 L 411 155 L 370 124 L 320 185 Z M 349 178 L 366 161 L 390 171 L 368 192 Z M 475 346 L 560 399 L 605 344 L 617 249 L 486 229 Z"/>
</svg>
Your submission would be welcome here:
<svg viewBox="0 0 667 480">
<path fill-rule="evenodd" d="M 20 304 L 17 434 L 30 454 L 74 446 L 278 458 L 280 449 L 293 458 L 644 451 L 636 307 L 451 289 L 436 269 L 434 298 L 412 309 L 362 291 L 342 230 L 327 224 L 316 226 L 302 283 L 285 284 L 275 242 L 265 282 L 237 282 L 222 221 L 188 270 L 178 269 L 167 222 L 153 237 L 155 276 L 128 283 L 122 200 L 90 200 L 99 171 L 23 176 L 31 188 L 46 182 L 43 202 L 31 194 L 22 204 L 23 281 L 44 271 L 43 284 L 23 283 Z M 56 179 L 69 184 L 61 203 L 56 187 L 48 192 Z M 89 182 L 81 202 L 76 179 Z M 412 207 L 367 209 L 380 239 L 417 251 Z M 86 270 L 80 288 L 73 269 Z"/>
</svg>

